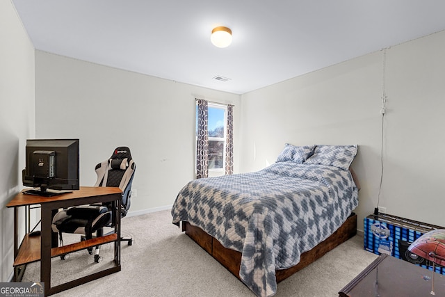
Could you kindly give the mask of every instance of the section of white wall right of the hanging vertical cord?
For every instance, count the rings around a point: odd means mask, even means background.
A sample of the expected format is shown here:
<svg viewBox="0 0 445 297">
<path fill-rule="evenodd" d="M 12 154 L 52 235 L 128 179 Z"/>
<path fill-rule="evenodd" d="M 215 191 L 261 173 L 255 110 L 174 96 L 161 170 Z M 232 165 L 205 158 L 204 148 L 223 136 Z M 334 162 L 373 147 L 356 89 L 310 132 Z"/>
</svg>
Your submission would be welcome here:
<svg viewBox="0 0 445 297">
<path fill-rule="evenodd" d="M 382 204 L 445 226 L 445 31 L 391 48 Z"/>
</svg>

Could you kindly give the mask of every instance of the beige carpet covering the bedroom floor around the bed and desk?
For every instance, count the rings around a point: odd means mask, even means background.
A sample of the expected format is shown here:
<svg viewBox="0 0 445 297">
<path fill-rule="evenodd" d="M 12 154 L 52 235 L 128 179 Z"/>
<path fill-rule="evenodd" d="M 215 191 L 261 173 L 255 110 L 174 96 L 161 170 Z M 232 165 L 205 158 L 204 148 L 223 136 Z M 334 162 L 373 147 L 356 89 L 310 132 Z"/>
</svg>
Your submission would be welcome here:
<svg viewBox="0 0 445 297">
<path fill-rule="evenodd" d="M 65 244 L 76 240 L 65 236 Z M 171 223 L 170 211 L 124 218 L 122 271 L 54 296 L 254 296 L 237 278 Z M 103 261 L 94 262 L 86 250 L 69 259 L 52 259 L 51 285 L 79 278 L 112 264 L 113 246 L 102 246 Z M 363 250 L 355 236 L 318 261 L 278 284 L 275 296 L 338 296 L 338 291 L 377 255 Z M 40 262 L 30 264 L 22 281 L 40 280 Z"/>
</svg>

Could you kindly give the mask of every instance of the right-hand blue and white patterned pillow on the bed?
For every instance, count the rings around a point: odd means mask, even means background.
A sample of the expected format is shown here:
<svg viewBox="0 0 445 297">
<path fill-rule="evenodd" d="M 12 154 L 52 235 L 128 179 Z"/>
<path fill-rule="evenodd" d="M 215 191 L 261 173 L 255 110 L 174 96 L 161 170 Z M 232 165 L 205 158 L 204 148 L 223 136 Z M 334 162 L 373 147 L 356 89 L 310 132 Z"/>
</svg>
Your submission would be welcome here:
<svg viewBox="0 0 445 297">
<path fill-rule="evenodd" d="M 357 148 L 357 145 L 317 145 L 305 164 L 329 165 L 348 170 Z"/>
</svg>

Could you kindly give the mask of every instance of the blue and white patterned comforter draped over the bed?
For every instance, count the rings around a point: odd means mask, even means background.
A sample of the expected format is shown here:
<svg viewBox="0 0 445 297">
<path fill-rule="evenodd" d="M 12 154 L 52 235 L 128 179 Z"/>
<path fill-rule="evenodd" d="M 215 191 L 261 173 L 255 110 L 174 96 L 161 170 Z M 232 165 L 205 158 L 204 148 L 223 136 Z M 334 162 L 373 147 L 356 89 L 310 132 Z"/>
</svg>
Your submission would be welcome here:
<svg viewBox="0 0 445 297">
<path fill-rule="evenodd" d="M 241 280 L 257 296 L 272 296 L 275 269 L 298 264 L 302 252 L 337 230 L 357 204 L 348 170 L 278 162 L 189 182 L 172 207 L 172 223 L 188 221 L 241 252 Z"/>
</svg>

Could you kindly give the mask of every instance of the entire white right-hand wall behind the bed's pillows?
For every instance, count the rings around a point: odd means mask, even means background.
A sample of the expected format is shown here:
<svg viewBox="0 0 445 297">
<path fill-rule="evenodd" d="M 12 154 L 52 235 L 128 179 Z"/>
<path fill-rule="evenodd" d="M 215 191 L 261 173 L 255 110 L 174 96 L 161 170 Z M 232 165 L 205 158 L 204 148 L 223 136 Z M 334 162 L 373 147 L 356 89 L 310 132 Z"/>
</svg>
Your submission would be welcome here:
<svg viewBox="0 0 445 297">
<path fill-rule="evenodd" d="M 384 177 L 387 213 L 445 226 L 445 31 L 386 50 Z M 241 171 L 273 163 L 284 147 L 358 144 L 359 223 L 380 184 L 385 51 L 241 97 Z"/>
</svg>

